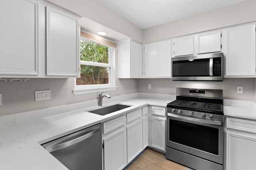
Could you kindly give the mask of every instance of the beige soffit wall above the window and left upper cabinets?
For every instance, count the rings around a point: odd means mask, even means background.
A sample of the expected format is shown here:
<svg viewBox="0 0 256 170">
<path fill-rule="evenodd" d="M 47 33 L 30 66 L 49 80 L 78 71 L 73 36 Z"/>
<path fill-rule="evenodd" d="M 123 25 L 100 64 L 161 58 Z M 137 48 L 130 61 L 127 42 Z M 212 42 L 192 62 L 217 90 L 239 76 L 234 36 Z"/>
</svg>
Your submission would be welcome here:
<svg viewBox="0 0 256 170">
<path fill-rule="evenodd" d="M 142 42 L 142 29 L 118 16 L 96 0 L 50 0 L 82 17 L 89 18 L 132 39 Z M 101 30 L 98 30 L 101 31 Z"/>
</svg>

